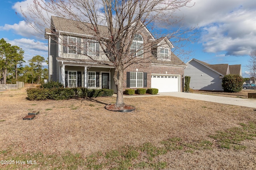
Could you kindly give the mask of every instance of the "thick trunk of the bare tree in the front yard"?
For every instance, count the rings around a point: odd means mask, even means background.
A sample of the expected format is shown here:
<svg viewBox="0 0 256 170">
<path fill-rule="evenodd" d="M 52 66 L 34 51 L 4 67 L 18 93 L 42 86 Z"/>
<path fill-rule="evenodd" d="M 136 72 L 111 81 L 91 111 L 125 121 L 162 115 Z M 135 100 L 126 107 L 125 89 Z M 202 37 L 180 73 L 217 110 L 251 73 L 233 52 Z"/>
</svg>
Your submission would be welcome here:
<svg viewBox="0 0 256 170">
<path fill-rule="evenodd" d="M 124 98 L 123 98 L 124 70 L 122 69 L 122 66 L 116 67 L 114 71 L 114 82 L 117 89 L 116 107 L 123 107 L 125 104 L 124 104 Z"/>
</svg>

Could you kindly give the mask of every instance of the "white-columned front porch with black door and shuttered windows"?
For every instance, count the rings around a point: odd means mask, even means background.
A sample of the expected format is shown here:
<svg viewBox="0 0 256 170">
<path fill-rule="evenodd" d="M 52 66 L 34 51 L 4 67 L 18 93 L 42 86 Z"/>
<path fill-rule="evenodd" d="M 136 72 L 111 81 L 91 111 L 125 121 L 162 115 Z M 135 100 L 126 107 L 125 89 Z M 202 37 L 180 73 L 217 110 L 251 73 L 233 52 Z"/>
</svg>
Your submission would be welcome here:
<svg viewBox="0 0 256 170">
<path fill-rule="evenodd" d="M 114 66 L 77 62 L 58 61 L 59 82 L 65 87 L 84 87 L 88 89 L 113 89 Z"/>
</svg>

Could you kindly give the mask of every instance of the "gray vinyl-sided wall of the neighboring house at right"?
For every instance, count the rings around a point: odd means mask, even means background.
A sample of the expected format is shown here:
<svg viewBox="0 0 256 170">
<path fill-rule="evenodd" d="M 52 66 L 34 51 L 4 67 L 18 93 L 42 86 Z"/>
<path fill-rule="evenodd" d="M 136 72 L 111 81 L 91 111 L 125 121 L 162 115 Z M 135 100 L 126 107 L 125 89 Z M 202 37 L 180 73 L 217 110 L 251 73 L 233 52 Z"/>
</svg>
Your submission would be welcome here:
<svg viewBox="0 0 256 170">
<path fill-rule="evenodd" d="M 191 60 L 184 70 L 185 76 L 190 76 L 190 88 L 194 90 L 223 90 L 220 74 L 210 68 Z"/>
</svg>

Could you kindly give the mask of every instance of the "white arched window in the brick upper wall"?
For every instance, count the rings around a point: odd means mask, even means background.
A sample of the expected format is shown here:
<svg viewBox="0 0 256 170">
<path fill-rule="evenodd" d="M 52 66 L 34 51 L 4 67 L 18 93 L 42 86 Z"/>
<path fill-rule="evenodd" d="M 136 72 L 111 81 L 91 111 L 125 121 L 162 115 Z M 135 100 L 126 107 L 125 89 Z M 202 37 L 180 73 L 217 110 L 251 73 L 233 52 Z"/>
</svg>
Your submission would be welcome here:
<svg viewBox="0 0 256 170">
<path fill-rule="evenodd" d="M 132 45 L 130 47 L 131 55 L 143 57 L 143 38 L 140 34 L 133 35 Z"/>
</svg>

